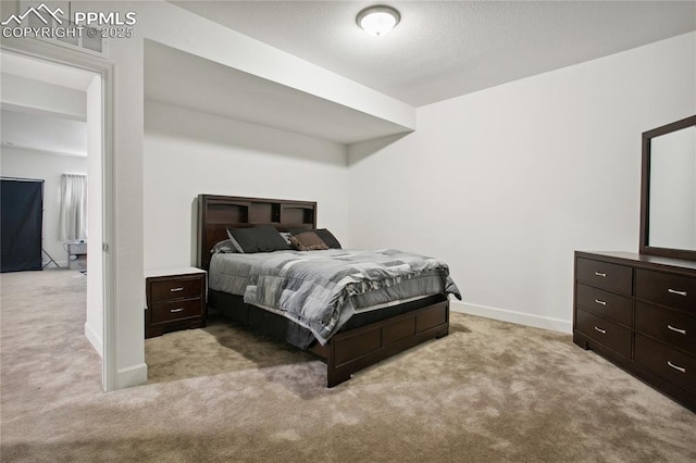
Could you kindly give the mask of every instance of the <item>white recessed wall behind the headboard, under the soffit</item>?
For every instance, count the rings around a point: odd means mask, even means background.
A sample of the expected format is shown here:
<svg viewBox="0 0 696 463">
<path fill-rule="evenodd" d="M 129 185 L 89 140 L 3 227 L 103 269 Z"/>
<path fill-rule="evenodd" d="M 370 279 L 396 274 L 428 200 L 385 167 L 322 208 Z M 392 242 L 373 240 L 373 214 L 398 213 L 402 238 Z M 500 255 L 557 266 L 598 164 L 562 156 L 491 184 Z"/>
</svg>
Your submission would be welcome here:
<svg viewBox="0 0 696 463">
<path fill-rule="evenodd" d="M 316 201 L 348 242 L 346 166 L 339 143 L 147 101 L 146 270 L 196 265 L 199 193 Z"/>
</svg>

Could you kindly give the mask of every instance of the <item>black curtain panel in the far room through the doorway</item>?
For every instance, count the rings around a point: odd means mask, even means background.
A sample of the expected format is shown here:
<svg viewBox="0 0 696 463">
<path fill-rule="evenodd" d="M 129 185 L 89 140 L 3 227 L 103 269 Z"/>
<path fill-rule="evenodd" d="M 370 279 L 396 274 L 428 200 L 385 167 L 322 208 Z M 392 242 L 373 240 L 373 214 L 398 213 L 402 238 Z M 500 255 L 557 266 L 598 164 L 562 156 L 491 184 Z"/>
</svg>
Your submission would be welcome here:
<svg viewBox="0 0 696 463">
<path fill-rule="evenodd" d="M 2 272 L 42 270 L 44 180 L 2 178 L 0 267 Z"/>
</svg>

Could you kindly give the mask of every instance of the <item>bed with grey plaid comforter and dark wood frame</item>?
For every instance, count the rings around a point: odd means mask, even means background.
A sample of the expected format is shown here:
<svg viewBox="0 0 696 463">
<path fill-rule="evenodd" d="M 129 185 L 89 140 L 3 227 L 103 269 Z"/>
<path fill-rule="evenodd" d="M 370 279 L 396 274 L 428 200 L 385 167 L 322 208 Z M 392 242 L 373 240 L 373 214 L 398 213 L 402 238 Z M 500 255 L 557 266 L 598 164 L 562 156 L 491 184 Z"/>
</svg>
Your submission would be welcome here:
<svg viewBox="0 0 696 463">
<path fill-rule="evenodd" d="M 197 256 L 198 266 L 209 273 L 209 312 L 220 312 L 318 355 L 326 363 L 327 387 L 334 387 L 349 379 L 352 373 L 398 352 L 448 335 L 448 293 L 460 296 L 449 278 L 446 264 L 430 258 L 422 263 L 417 260 L 418 254 L 395 250 L 375 251 L 374 259 L 365 251 L 340 248 L 236 255 L 216 252 L 228 240 L 228 228 L 243 233 L 269 225 L 281 233 L 312 235 L 302 232 L 316 232 L 316 203 L 199 195 Z M 315 296 L 303 296 L 304 299 L 293 302 L 296 310 L 293 309 L 288 300 L 296 298 L 288 299 L 287 295 L 299 297 L 303 291 L 297 289 L 293 292 L 296 289 L 290 286 L 298 286 L 295 280 L 297 273 L 284 272 L 301 270 L 302 275 L 307 273 L 312 278 L 324 278 L 324 274 L 316 270 L 323 265 L 331 268 L 321 272 L 334 272 L 334 276 L 338 273 L 345 281 L 346 275 L 337 267 L 344 261 L 351 268 L 389 272 L 389 277 L 381 278 L 383 283 L 369 288 L 364 283 L 349 284 L 350 288 L 363 286 L 360 291 L 353 289 L 352 296 L 341 296 L 337 302 L 331 295 L 327 296 L 330 299 L 319 298 L 320 302 Z M 376 267 L 377 261 L 383 261 L 387 270 Z M 403 284 L 406 276 L 391 274 L 409 266 L 419 270 L 418 275 L 422 278 L 418 285 L 411 281 Z M 313 275 L 314 272 L 318 276 Z M 285 281 L 286 286 L 275 288 L 276 292 L 273 292 L 271 287 L 277 280 Z M 302 285 L 314 286 L 311 281 Z M 418 289 L 412 289 L 414 286 Z M 345 288 L 340 293 L 346 293 Z M 346 309 L 348 306 L 349 310 Z M 314 309 L 318 313 L 313 312 Z"/>
</svg>

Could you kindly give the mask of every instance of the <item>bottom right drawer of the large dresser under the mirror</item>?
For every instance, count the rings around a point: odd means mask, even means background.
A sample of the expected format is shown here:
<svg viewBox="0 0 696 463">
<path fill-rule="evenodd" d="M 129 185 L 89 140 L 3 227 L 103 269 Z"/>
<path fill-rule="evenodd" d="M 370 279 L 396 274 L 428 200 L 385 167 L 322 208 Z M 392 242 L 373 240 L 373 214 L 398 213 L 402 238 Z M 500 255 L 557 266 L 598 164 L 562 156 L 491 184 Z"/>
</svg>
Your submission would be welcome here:
<svg viewBox="0 0 696 463">
<path fill-rule="evenodd" d="M 635 359 L 658 375 L 696 393 L 696 356 L 635 335 Z"/>
</svg>

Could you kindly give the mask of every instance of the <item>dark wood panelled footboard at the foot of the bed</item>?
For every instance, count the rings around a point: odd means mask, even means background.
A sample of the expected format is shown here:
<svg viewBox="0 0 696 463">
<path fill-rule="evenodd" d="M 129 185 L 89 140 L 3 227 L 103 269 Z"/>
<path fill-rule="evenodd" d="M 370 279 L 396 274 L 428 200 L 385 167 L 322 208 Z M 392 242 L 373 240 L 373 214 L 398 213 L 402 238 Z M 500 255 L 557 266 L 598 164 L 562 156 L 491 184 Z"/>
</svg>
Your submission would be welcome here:
<svg viewBox="0 0 696 463">
<path fill-rule="evenodd" d="M 326 386 L 334 387 L 365 366 L 428 339 L 449 334 L 449 302 L 443 301 L 382 322 L 334 335 L 310 349 L 326 362 Z"/>
</svg>

